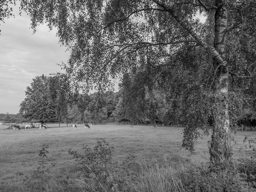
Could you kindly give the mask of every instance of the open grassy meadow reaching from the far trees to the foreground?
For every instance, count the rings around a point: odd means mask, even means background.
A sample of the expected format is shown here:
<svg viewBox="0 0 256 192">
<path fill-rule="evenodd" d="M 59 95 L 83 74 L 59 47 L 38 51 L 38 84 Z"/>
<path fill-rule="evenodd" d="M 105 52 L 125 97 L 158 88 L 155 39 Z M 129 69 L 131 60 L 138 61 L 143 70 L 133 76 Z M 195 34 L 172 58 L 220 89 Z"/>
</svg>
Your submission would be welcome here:
<svg viewBox="0 0 256 192">
<path fill-rule="evenodd" d="M 61 127 L 48 125 L 48 128 L 44 130 L 38 128 L 15 131 L 0 129 L 0 191 L 88 191 L 86 188 L 88 184 L 84 183 L 82 174 L 78 174 L 81 172 L 79 165 L 68 154 L 68 151 L 71 149 L 83 154 L 83 145 L 93 148 L 100 138 L 114 147 L 112 157 L 116 162 L 115 166 L 125 167 L 135 175 L 141 175 L 143 170 L 150 172 L 147 168 L 151 165 L 164 165 L 172 167 L 172 171 L 180 170 L 180 172 L 191 167 L 207 167 L 209 162 L 207 141 L 211 140 L 211 137 L 199 138 L 195 145 L 195 152 L 191 153 L 181 148 L 182 130 L 182 127 L 137 125 L 93 125 L 91 129 L 84 129 L 83 125 L 77 125 L 77 129 L 65 125 Z M 237 132 L 234 134 L 235 159 L 247 158 L 252 154 L 250 149 L 246 149 L 247 145 L 243 143 L 245 136 L 255 138 L 256 133 Z M 47 163 L 45 169 L 48 168 L 49 172 L 38 174 L 37 167 L 40 164 L 38 161 L 42 160 L 39 151 L 44 145 L 49 146 L 47 159 L 44 160 L 44 163 Z M 147 187 L 144 189 L 141 183 L 140 188 L 135 186 L 132 182 L 138 178 L 128 179 L 129 176 L 131 175 L 125 176 L 125 182 L 129 182 L 126 183 L 127 191 L 128 188 L 129 191 L 148 190 L 146 190 Z M 90 189 L 99 191 L 92 187 Z M 109 191 L 103 186 L 101 189 Z M 120 190 L 113 187 L 110 189 L 110 191 Z M 180 188 L 177 191 L 185 190 Z"/>
</svg>

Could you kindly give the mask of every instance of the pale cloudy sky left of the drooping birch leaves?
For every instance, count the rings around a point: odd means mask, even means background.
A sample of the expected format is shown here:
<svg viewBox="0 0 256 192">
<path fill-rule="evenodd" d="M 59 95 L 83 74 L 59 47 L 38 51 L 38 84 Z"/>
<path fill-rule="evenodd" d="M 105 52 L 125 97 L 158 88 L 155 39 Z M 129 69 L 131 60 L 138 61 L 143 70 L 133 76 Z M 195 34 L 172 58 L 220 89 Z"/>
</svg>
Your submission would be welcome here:
<svg viewBox="0 0 256 192">
<path fill-rule="evenodd" d="M 66 63 L 69 56 L 55 31 L 41 25 L 33 34 L 29 16 L 15 16 L 0 23 L 0 113 L 4 114 L 17 114 L 33 78 L 61 72 L 56 64 Z"/>
</svg>

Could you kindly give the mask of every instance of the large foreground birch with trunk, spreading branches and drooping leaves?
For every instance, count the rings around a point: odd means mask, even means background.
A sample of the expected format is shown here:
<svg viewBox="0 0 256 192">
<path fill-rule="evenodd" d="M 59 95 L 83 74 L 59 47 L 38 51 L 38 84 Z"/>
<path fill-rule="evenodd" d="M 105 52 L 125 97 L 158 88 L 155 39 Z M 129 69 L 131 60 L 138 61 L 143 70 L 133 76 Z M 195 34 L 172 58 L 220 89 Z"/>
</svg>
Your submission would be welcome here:
<svg viewBox="0 0 256 192">
<path fill-rule="evenodd" d="M 83 90 L 94 85 L 104 90 L 119 74 L 139 68 L 147 72 L 151 85 L 145 94 L 154 104 L 152 82 L 162 70 L 162 84 L 174 90 L 166 99 L 190 104 L 191 110 L 177 106 L 188 120 L 184 147 L 193 148 L 203 116 L 210 113 L 211 162 L 229 161 L 232 93 L 245 97 L 248 92 L 239 87 L 248 85 L 244 78 L 255 82 L 255 0 L 22 0 L 21 9 L 34 29 L 43 22 L 57 27 L 60 42 L 71 51 L 63 67 Z M 197 13 L 207 21 L 201 23 Z"/>
</svg>

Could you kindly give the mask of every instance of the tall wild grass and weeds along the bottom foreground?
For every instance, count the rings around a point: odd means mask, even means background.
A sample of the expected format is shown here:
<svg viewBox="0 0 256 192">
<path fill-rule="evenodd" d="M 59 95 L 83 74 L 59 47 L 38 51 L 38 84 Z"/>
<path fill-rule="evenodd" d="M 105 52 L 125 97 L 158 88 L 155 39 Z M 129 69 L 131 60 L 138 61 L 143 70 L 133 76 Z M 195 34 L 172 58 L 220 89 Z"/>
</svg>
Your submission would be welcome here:
<svg viewBox="0 0 256 192">
<path fill-rule="evenodd" d="M 119 166 L 109 170 L 106 181 L 85 177 L 78 165 L 67 165 L 62 173 L 44 175 L 34 171 L 20 172 L 1 192 L 255 192 L 253 185 L 236 167 L 211 172 L 207 166 L 171 165 L 159 159 L 140 162 L 137 170 Z M 92 173 L 93 175 L 93 173 Z M 14 181 L 14 182 L 13 182 Z"/>
</svg>

